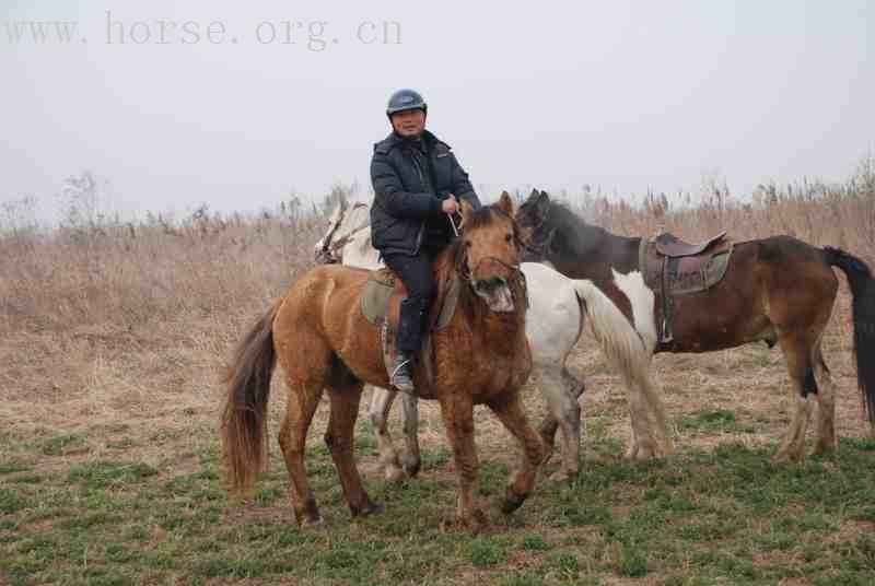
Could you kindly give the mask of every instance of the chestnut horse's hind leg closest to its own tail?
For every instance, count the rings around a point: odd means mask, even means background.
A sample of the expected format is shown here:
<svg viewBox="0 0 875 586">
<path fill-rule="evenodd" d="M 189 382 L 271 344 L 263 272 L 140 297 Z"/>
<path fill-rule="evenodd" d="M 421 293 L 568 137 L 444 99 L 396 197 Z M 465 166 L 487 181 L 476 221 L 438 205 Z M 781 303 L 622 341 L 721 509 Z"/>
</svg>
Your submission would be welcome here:
<svg viewBox="0 0 875 586">
<path fill-rule="evenodd" d="M 279 434 L 279 443 L 285 459 L 285 468 L 292 481 L 291 500 L 299 525 L 322 523 L 316 499 L 307 482 L 304 467 L 307 430 L 323 394 L 323 380 L 288 379 L 289 392 L 285 417 Z"/>
</svg>

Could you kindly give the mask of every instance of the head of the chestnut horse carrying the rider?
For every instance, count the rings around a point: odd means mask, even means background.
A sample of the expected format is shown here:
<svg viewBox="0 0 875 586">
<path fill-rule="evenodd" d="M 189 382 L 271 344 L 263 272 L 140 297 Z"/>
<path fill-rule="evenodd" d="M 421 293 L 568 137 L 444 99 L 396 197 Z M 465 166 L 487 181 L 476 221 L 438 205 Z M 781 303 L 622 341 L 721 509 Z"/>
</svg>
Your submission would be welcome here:
<svg viewBox="0 0 875 586">
<path fill-rule="evenodd" d="M 469 276 L 474 292 L 492 312 L 515 309 L 514 280 L 520 278 L 523 243 L 513 219 L 513 202 L 504 191 L 498 203 L 475 210 L 462 201 L 464 234 L 459 251 L 460 267 Z"/>
</svg>

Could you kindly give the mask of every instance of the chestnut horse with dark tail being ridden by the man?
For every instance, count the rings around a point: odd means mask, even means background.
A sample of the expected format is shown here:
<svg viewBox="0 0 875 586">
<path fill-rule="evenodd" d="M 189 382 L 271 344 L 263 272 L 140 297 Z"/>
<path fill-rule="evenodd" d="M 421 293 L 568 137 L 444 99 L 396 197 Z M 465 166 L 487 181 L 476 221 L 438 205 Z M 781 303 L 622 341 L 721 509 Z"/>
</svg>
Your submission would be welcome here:
<svg viewBox="0 0 875 586">
<path fill-rule="evenodd" d="M 477 531 L 486 523 L 476 506 L 474 406 L 487 405 L 523 445 L 522 468 L 501 509 L 509 514 L 532 493 L 544 445 L 529 425 L 520 387 L 532 368 L 525 338 L 525 289 L 520 277 L 522 243 L 509 197 L 474 210 L 462 206 L 464 238 L 442 259 L 463 279 L 448 326 L 432 333 L 433 385 L 419 388 L 436 399 L 459 476 L 458 520 Z M 439 259 L 439 262 L 441 259 Z M 307 430 L 324 390 L 330 415 L 325 442 L 353 516 L 375 511 L 352 455 L 353 430 L 364 383 L 389 385 L 378 328 L 361 310 L 369 271 L 322 265 L 295 282 L 247 333 L 233 359 L 223 414 L 223 443 L 233 489 L 250 487 L 266 458 L 266 408 L 278 360 L 288 382 L 279 443 L 291 479 L 299 524 L 322 521 L 304 467 Z"/>
</svg>

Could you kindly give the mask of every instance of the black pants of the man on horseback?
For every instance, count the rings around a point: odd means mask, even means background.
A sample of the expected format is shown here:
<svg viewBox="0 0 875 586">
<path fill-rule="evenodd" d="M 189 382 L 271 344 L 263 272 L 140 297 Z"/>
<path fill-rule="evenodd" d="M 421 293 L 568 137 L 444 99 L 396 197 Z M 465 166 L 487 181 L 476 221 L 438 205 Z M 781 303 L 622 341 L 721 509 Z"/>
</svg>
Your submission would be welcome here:
<svg viewBox="0 0 875 586">
<path fill-rule="evenodd" d="M 421 250 L 416 256 L 385 255 L 386 266 L 398 276 L 407 289 L 407 298 L 401 302 L 398 323 L 398 351 L 409 359 L 416 359 L 422 343 L 429 308 L 438 295 L 438 283 L 431 272 L 434 256 L 430 250 Z"/>
</svg>

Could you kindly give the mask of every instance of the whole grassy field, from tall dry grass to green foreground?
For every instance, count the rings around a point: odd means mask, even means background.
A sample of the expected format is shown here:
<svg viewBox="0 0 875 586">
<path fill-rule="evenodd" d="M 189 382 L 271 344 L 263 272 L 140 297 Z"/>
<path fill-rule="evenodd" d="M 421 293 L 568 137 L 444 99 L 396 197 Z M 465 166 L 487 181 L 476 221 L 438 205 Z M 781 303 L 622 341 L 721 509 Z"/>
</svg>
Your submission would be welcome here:
<svg viewBox="0 0 875 586">
<path fill-rule="evenodd" d="M 653 199 L 638 208 L 599 200 L 582 213 L 626 233 L 660 224 L 691 238 L 718 225 L 738 238 L 791 232 L 875 260 L 872 185 L 725 203 L 672 211 Z M 478 409 L 483 535 L 444 523 L 456 477 L 432 403 L 420 411 L 423 469 L 400 485 L 384 482 L 360 418 L 360 467 L 385 505 L 362 520 L 350 519 L 322 443 L 322 406 L 307 465 L 327 524 L 299 529 L 276 444 L 281 377 L 270 470 L 255 493 L 230 497 L 218 436 L 224 361 L 308 265 L 320 232 L 315 220 L 282 213 L 201 214 L 3 237 L 0 584 L 875 582 L 875 438 L 856 390 L 843 277 L 825 341 L 838 387 L 833 455 L 771 460 L 790 395 L 780 351 L 761 344 L 657 356 L 678 454 L 623 461 L 625 390 L 585 338 L 571 361 L 587 382 L 584 461 L 571 484 L 546 480 L 555 458 L 534 496 L 502 517 L 495 504 L 517 448 Z M 526 403 L 539 419 L 535 389 Z M 399 437 L 395 422 L 394 431 Z"/>
</svg>

